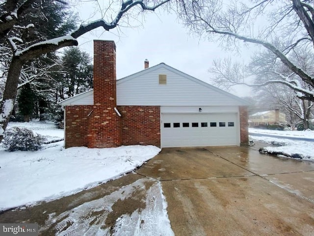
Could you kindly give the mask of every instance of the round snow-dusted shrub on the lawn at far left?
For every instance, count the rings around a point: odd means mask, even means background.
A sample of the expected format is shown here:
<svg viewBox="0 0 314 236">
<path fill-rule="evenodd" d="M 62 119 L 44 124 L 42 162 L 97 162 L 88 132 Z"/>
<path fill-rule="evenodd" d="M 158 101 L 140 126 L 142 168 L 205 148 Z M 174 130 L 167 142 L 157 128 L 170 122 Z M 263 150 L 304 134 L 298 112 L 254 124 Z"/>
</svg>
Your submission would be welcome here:
<svg viewBox="0 0 314 236">
<path fill-rule="evenodd" d="M 26 128 L 13 127 L 5 131 L 2 146 L 9 151 L 35 151 L 41 148 L 44 138 Z"/>
</svg>

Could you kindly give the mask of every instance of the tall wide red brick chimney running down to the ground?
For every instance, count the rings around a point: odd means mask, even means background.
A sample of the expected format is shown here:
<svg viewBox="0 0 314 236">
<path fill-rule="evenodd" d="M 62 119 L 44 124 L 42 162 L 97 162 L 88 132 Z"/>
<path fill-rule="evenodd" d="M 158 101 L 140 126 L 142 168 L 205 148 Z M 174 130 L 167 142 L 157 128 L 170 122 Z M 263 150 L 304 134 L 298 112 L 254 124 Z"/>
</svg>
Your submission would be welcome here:
<svg viewBox="0 0 314 236">
<path fill-rule="evenodd" d="M 116 103 L 116 45 L 94 40 L 94 105 L 88 122 L 88 148 L 121 145 L 121 118 Z"/>
</svg>

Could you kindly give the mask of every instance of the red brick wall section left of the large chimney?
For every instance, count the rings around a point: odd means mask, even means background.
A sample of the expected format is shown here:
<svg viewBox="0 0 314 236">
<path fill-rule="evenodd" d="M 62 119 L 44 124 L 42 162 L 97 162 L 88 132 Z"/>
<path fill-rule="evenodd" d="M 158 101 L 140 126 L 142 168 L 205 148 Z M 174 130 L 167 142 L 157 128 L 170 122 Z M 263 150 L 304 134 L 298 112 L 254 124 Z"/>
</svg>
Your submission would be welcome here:
<svg viewBox="0 0 314 236">
<path fill-rule="evenodd" d="M 65 148 L 88 146 L 88 114 L 92 109 L 92 105 L 65 107 Z"/>
</svg>

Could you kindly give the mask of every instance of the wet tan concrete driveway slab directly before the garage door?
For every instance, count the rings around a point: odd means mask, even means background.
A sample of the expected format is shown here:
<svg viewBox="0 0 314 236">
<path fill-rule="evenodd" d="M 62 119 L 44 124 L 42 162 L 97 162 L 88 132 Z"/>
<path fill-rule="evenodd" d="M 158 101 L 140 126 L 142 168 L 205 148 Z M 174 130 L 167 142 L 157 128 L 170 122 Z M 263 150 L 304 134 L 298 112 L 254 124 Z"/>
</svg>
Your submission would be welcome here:
<svg viewBox="0 0 314 236">
<path fill-rule="evenodd" d="M 180 236 L 314 236 L 314 163 L 254 148 L 163 149 L 157 178 Z"/>
</svg>

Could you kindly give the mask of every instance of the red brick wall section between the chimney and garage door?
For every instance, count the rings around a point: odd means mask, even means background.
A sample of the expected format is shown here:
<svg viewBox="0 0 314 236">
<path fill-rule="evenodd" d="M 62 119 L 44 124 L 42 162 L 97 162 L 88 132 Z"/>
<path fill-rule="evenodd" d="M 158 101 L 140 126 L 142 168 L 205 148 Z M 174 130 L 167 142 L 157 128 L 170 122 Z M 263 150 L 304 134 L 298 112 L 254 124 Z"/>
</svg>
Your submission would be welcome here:
<svg viewBox="0 0 314 236">
<path fill-rule="evenodd" d="M 159 106 L 119 106 L 122 115 L 122 145 L 160 147 Z"/>
</svg>

